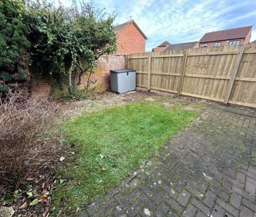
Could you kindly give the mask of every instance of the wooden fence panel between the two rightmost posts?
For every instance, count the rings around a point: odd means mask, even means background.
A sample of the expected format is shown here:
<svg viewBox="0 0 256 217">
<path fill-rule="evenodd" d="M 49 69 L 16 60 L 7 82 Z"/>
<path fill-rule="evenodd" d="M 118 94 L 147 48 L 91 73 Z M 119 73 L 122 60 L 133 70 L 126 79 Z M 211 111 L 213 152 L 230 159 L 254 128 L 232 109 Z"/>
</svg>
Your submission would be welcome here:
<svg viewBox="0 0 256 217">
<path fill-rule="evenodd" d="M 181 93 L 223 101 L 236 53 L 237 46 L 188 50 Z"/>
</svg>

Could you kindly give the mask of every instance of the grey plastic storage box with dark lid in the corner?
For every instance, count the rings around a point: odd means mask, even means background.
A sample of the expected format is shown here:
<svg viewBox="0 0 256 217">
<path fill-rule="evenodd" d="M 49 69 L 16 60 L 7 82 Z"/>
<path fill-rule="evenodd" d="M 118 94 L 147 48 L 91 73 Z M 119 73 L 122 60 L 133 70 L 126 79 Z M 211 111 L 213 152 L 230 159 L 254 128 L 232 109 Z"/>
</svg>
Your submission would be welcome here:
<svg viewBox="0 0 256 217">
<path fill-rule="evenodd" d="M 129 68 L 111 70 L 111 91 L 125 93 L 136 89 L 136 71 Z"/>
</svg>

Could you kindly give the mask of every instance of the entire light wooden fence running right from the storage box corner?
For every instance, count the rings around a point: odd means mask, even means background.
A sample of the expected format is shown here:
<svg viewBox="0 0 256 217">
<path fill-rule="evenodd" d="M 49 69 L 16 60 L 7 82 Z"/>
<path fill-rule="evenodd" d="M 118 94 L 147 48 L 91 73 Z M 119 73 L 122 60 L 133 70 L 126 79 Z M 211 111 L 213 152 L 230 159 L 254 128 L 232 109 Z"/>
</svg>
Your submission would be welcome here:
<svg viewBox="0 0 256 217">
<path fill-rule="evenodd" d="M 254 44 L 131 54 L 129 62 L 138 87 L 256 107 Z"/>
</svg>

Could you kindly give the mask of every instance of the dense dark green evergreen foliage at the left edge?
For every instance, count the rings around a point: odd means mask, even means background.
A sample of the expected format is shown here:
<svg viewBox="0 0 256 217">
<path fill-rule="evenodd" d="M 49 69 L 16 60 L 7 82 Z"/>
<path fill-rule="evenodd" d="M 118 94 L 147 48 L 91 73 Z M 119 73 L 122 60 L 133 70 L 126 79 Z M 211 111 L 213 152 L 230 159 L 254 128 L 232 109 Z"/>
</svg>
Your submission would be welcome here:
<svg viewBox="0 0 256 217">
<path fill-rule="evenodd" d="M 22 0 L 0 1 L 0 93 L 27 77 L 29 32 L 23 22 L 23 13 Z"/>
</svg>

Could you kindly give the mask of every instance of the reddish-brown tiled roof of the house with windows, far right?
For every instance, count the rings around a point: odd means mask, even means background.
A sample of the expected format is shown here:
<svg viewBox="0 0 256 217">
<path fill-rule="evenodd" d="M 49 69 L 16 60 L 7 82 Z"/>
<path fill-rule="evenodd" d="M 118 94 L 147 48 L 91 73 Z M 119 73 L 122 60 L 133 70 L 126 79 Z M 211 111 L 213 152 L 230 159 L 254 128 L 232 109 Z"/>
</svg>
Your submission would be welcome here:
<svg viewBox="0 0 256 217">
<path fill-rule="evenodd" d="M 248 27 L 240 27 L 235 29 L 226 29 L 221 31 L 208 32 L 204 34 L 201 40 L 199 40 L 199 43 L 246 38 L 250 29 L 252 28 L 253 26 L 248 26 Z"/>
</svg>

